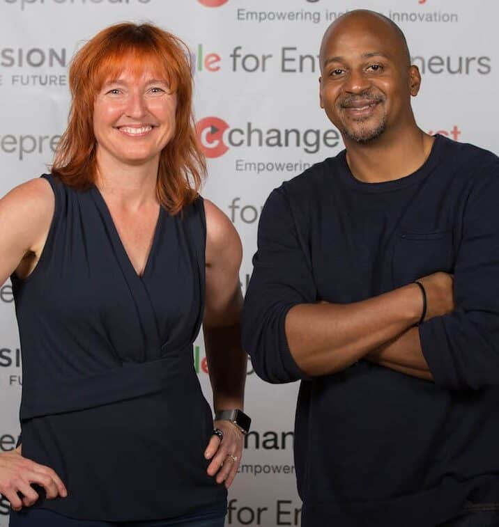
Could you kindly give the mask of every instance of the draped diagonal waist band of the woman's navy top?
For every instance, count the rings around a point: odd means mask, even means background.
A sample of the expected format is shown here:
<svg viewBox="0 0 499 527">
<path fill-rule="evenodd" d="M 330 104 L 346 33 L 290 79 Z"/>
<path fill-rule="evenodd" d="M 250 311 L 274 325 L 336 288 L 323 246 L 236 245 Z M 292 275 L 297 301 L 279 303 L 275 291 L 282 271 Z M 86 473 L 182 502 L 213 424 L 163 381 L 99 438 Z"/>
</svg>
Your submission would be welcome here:
<svg viewBox="0 0 499 527">
<path fill-rule="evenodd" d="M 62 414 L 163 391 L 172 383 L 185 386 L 185 376 L 196 376 L 192 344 L 169 352 L 163 359 L 122 363 L 95 375 L 37 379 L 23 386 L 21 420 Z M 181 392 L 179 392 L 181 393 Z"/>
</svg>

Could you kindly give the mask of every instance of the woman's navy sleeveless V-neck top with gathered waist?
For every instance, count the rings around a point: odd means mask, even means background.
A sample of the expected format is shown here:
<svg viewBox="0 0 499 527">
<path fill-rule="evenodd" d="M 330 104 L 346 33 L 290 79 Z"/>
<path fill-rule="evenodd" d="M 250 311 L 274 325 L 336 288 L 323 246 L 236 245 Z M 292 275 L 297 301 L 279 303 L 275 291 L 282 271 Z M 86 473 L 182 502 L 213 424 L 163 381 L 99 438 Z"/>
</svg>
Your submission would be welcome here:
<svg viewBox="0 0 499 527">
<path fill-rule="evenodd" d="M 224 503 L 206 474 L 213 430 L 194 371 L 204 312 L 202 198 L 160 209 L 144 274 L 96 187 L 43 175 L 55 211 L 38 265 L 12 277 L 22 347 L 22 453 L 67 498 L 35 506 L 78 519 L 147 521 Z"/>
</svg>

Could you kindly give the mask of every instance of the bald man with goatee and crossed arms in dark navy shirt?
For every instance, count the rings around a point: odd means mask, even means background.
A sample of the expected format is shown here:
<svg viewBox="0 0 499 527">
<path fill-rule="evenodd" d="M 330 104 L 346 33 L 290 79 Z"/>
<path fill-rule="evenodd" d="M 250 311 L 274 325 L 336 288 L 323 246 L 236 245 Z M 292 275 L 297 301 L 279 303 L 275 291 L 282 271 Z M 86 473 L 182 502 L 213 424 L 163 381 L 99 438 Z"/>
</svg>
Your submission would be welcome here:
<svg viewBox="0 0 499 527">
<path fill-rule="evenodd" d="M 268 198 L 243 310 L 256 372 L 302 380 L 302 526 L 499 526 L 498 158 L 417 127 L 383 15 L 320 61 L 346 151 Z"/>
</svg>

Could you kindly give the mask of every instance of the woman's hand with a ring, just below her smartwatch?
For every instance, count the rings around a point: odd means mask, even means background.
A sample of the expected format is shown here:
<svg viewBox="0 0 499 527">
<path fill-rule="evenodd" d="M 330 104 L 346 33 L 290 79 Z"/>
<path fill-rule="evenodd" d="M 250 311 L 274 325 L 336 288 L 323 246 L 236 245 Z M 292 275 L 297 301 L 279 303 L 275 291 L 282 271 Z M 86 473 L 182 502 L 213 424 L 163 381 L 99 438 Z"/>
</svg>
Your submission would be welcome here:
<svg viewBox="0 0 499 527">
<path fill-rule="evenodd" d="M 217 483 L 224 482 L 228 489 L 238 472 L 243 455 L 244 434 L 228 420 L 214 421 L 213 426 L 222 430 L 224 437 L 213 435 L 206 447 L 204 457 L 211 459 L 208 475 L 215 476 Z"/>
</svg>

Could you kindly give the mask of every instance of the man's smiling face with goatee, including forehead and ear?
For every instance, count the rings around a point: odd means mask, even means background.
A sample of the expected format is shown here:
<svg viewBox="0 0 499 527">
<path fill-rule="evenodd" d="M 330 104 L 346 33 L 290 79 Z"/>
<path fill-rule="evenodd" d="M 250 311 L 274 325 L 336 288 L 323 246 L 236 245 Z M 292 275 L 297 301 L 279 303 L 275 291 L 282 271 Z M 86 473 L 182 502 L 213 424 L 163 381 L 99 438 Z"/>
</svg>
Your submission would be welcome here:
<svg viewBox="0 0 499 527">
<path fill-rule="evenodd" d="M 385 22 L 362 15 L 341 21 L 323 41 L 321 68 L 321 108 L 344 139 L 369 143 L 408 123 L 419 74 Z"/>
</svg>

